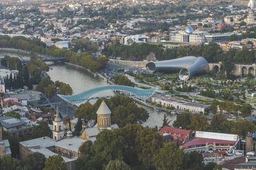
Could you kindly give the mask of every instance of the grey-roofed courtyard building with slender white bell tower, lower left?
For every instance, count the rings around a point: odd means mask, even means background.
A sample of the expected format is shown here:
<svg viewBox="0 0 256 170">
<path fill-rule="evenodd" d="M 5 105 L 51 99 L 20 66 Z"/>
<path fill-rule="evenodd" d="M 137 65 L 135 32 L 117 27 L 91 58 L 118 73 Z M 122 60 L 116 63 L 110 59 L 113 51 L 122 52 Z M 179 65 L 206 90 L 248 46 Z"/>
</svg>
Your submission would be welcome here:
<svg viewBox="0 0 256 170">
<path fill-rule="evenodd" d="M 42 138 L 34 138 L 28 141 L 19 143 L 19 153 L 22 159 L 26 158 L 28 154 L 39 152 L 49 158 L 49 156 L 61 155 L 68 170 L 76 169 L 74 162 L 80 156 L 79 147 L 85 143 L 83 138 L 73 137 L 71 128 L 64 136 L 63 120 L 56 113 L 53 123 L 53 138 L 44 136 Z"/>
</svg>

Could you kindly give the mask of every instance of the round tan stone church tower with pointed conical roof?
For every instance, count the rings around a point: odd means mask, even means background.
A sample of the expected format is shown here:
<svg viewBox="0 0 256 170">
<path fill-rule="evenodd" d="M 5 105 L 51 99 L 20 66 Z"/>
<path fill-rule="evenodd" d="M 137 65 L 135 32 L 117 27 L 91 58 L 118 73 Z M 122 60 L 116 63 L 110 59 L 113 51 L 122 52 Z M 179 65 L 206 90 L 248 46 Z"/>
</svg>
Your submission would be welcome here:
<svg viewBox="0 0 256 170">
<path fill-rule="evenodd" d="M 100 107 L 97 110 L 97 123 L 100 131 L 105 130 L 111 125 L 111 111 L 105 101 L 100 104 Z"/>
</svg>

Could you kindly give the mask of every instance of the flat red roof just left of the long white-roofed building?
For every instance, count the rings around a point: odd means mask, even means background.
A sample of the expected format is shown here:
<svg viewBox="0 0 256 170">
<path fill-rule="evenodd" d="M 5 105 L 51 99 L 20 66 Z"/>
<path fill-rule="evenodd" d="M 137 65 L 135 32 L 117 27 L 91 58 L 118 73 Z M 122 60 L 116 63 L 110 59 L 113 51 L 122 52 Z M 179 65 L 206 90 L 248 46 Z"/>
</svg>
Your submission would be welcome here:
<svg viewBox="0 0 256 170">
<path fill-rule="evenodd" d="M 173 140 L 184 140 L 186 136 L 191 133 L 192 130 L 182 130 L 177 127 L 169 127 L 169 126 L 164 126 L 162 127 L 161 130 L 158 131 L 158 134 L 170 134 L 173 137 Z"/>
</svg>

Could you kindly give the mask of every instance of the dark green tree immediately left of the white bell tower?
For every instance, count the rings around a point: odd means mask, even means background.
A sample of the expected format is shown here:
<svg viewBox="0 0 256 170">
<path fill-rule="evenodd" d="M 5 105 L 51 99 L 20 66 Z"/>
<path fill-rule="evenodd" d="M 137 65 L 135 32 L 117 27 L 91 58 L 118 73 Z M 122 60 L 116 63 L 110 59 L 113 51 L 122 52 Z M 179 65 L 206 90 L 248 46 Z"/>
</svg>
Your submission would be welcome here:
<svg viewBox="0 0 256 170">
<path fill-rule="evenodd" d="M 39 125 L 36 125 L 34 127 L 32 136 L 34 138 L 40 138 L 43 136 L 48 136 L 52 138 L 52 130 L 50 130 L 50 127 L 46 122 L 42 121 L 39 123 Z"/>
</svg>

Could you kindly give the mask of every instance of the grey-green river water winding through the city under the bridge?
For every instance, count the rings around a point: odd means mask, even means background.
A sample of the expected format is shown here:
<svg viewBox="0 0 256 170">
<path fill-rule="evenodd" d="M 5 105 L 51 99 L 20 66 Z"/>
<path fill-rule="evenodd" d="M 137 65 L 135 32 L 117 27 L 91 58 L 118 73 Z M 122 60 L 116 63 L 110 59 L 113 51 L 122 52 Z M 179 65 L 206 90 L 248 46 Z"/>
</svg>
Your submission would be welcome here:
<svg viewBox="0 0 256 170">
<path fill-rule="evenodd" d="M 25 56 L 21 53 L 13 53 L 0 50 L 0 58 L 3 58 L 6 55 L 19 58 L 28 58 L 28 56 Z M 70 66 L 67 64 L 52 64 L 50 62 L 47 64 L 49 64 L 50 66 L 50 71 L 48 71 L 47 74 L 50 76 L 51 80 L 54 82 L 58 80 L 61 82 L 65 82 L 66 84 L 70 84 L 74 94 L 81 93 L 84 90 L 89 90 L 90 88 L 108 85 L 107 82 L 102 80 L 100 77 L 94 77 L 92 73 L 89 73 L 88 71 L 78 68 L 76 66 Z M 115 94 L 112 91 L 107 91 L 96 95 L 96 97 L 103 97 L 106 95 Z M 93 104 L 95 100 L 92 100 L 90 102 Z M 160 127 L 162 125 L 164 113 L 166 113 L 167 118 L 171 120 L 169 125 L 172 125 L 173 121 L 175 121 L 176 119 L 176 116 L 174 114 L 170 114 L 167 112 L 157 112 L 156 110 L 153 110 L 153 108 L 149 108 L 142 104 L 137 105 L 145 108 L 145 110 L 149 112 L 149 119 L 147 120 L 147 122 L 143 123 L 143 126 L 156 127 L 157 125 L 158 127 Z"/>
</svg>

